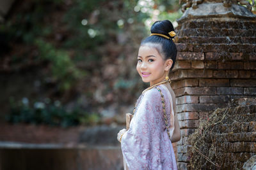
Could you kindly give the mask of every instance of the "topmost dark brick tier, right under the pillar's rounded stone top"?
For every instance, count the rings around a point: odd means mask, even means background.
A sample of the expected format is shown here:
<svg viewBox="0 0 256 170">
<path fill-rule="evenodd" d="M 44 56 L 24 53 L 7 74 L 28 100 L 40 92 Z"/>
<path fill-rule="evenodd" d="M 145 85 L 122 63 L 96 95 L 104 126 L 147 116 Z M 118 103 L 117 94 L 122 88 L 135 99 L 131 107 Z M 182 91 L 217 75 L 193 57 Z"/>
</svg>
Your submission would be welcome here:
<svg viewBox="0 0 256 170">
<path fill-rule="evenodd" d="M 256 22 L 237 22 L 237 21 L 228 21 L 228 22 L 216 22 L 216 21 L 189 21 L 187 24 L 182 25 L 181 29 L 254 29 L 256 30 Z"/>
</svg>

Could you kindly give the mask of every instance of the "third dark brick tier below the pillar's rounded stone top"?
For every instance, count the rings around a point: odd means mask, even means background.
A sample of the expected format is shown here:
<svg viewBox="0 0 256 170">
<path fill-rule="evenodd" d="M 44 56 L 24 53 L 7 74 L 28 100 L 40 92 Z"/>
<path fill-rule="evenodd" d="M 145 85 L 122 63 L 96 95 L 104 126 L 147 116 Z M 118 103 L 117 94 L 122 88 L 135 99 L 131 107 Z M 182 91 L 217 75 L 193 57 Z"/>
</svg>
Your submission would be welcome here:
<svg viewBox="0 0 256 170">
<path fill-rule="evenodd" d="M 176 40 L 176 39 L 175 39 Z M 244 43 L 252 43 L 256 45 L 256 36 L 252 37 L 241 37 L 241 36 L 225 36 L 225 37 L 195 37 L 195 36 L 189 36 L 189 37 L 178 37 L 175 43 L 225 43 L 225 44 L 244 44 Z"/>
</svg>

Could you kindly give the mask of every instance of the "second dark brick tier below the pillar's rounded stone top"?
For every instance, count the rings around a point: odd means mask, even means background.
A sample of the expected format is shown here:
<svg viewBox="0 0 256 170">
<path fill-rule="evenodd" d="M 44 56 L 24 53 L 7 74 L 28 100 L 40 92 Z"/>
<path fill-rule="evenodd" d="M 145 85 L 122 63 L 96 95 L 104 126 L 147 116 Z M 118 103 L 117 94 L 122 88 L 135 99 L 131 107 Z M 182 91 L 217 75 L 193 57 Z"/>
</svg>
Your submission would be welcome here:
<svg viewBox="0 0 256 170">
<path fill-rule="evenodd" d="M 206 37 L 234 37 L 234 36 L 242 36 L 242 37 L 254 37 L 256 36 L 255 29 L 220 29 L 220 28 L 211 28 L 211 29 L 181 29 L 177 32 L 178 36 L 186 37 L 186 36 L 206 36 Z"/>
</svg>

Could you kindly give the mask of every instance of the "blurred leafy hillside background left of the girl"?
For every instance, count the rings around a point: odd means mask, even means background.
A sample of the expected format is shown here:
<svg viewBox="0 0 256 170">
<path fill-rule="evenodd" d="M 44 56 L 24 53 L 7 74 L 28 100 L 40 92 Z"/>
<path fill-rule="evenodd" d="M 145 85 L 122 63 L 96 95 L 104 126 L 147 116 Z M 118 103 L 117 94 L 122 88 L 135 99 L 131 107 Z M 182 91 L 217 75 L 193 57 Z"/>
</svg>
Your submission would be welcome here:
<svg viewBox="0 0 256 170">
<path fill-rule="evenodd" d="M 175 20 L 177 0 L 16 1 L 0 25 L 1 120 L 78 125 L 124 122 L 147 87 L 141 39 Z"/>
</svg>

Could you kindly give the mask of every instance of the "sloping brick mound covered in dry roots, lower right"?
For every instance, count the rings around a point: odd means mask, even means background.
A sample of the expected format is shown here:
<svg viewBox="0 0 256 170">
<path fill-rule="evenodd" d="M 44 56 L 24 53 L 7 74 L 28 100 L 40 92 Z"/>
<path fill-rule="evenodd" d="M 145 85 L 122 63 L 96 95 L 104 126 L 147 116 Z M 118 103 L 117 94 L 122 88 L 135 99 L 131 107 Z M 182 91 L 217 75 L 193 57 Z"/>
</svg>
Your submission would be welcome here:
<svg viewBox="0 0 256 170">
<path fill-rule="evenodd" d="M 256 97 L 234 99 L 227 108 L 214 111 L 188 140 L 190 169 L 218 169 L 195 152 L 195 147 L 221 169 L 243 169 L 256 155 Z"/>
</svg>

